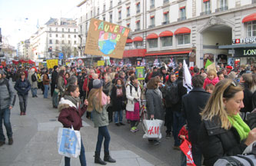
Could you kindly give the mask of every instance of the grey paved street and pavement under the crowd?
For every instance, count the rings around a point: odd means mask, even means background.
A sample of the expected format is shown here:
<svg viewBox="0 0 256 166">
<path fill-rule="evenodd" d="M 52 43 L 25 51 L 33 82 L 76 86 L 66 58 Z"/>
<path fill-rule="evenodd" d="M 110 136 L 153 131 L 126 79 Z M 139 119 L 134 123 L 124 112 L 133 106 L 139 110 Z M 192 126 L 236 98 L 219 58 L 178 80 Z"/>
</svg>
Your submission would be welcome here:
<svg viewBox="0 0 256 166">
<path fill-rule="evenodd" d="M 6 144 L 0 148 L 0 165 L 64 165 L 64 158 L 58 154 L 57 149 L 58 127 L 62 125 L 57 121 L 58 110 L 52 108 L 52 98 L 44 99 L 41 90 L 38 91 L 38 98 L 32 98 L 30 93 L 27 110 L 27 115 L 20 116 L 16 101 L 11 115 L 14 144 L 8 145 L 7 139 Z M 83 120 L 85 127 L 81 128 L 81 138 L 85 145 L 87 164 L 98 165 L 94 164 L 93 158 L 98 130 L 93 127 L 92 121 L 85 117 Z M 166 140 L 165 133 L 161 144 L 156 146 L 148 144 L 148 141 L 142 138 L 142 129 L 137 133 L 131 133 L 129 125 L 117 127 L 111 123 L 109 131 L 111 156 L 117 160 L 117 163 L 108 163 L 108 165 L 179 164 L 180 151 L 172 150 L 173 138 Z M 80 165 L 78 158 L 72 158 L 71 165 Z"/>
</svg>

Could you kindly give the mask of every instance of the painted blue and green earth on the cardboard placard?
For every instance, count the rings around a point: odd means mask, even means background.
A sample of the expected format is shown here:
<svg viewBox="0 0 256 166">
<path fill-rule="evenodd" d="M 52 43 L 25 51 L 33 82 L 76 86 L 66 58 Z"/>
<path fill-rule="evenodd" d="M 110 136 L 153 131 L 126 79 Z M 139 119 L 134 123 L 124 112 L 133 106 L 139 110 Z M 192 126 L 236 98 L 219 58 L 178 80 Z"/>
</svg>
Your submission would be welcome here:
<svg viewBox="0 0 256 166">
<path fill-rule="evenodd" d="M 108 33 L 108 32 L 105 32 Z M 105 38 L 105 37 L 108 38 Z M 98 48 L 101 50 L 101 52 L 105 55 L 110 55 L 114 50 L 116 46 L 117 41 L 113 38 L 111 38 L 111 35 L 103 34 L 100 38 L 98 38 Z"/>
</svg>

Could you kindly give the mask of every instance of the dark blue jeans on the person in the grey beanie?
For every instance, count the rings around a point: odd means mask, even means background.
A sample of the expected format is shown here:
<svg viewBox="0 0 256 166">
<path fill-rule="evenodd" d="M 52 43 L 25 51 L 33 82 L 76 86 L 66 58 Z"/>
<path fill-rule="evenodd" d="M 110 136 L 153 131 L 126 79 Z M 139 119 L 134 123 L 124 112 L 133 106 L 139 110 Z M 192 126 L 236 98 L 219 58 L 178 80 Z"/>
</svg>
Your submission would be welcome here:
<svg viewBox="0 0 256 166">
<path fill-rule="evenodd" d="M 104 151 L 109 152 L 110 135 L 108 133 L 107 126 L 98 127 L 98 141 L 96 144 L 96 152 L 101 152 L 101 144 L 102 144 L 103 138 L 105 138 Z"/>
</svg>

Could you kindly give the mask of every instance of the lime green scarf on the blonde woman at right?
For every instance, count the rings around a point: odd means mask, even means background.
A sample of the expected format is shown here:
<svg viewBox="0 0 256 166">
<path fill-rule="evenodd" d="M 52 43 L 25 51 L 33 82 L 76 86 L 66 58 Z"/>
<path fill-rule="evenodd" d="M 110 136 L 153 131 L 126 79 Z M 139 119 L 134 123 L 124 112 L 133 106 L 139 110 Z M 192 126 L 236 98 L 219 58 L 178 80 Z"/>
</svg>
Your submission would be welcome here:
<svg viewBox="0 0 256 166">
<path fill-rule="evenodd" d="M 228 116 L 228 121 L 230 121 L 231 125 L 238 131 L 241 141 L 248 138 L 248 134 L 251 131 L 251 129 L 246 123 L 244 123 L 239 114 Z"/>
</svg>

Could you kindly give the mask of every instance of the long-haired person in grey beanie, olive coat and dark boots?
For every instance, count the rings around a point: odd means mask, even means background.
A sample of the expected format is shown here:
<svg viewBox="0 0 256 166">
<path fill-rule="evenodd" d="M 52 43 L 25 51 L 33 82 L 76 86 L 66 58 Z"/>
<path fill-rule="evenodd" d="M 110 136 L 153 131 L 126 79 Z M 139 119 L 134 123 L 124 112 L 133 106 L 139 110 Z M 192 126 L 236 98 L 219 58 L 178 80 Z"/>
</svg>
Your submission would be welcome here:
<svg viewBox="0 0 256 166">
<path fill-rule="evenodd" d="M 115 163 L 109 154 L 110 134 L 108 132 L 108 113 L 107 105 L 110 103 L 110 97 L 102 91 L 103 81 L 95 79 L 92 82 L 93 88 L 88 95 L 88 108 L 91 111 L 95 128 L 98 128 L 98 141 L 95 150 L 95 163 L 107 164 L 105 161 Z M 85 100 L 87 101 L 87 100 Z M 101 160 L 101 145 L 104 141 L 104 161 Z"/>
</svg>

